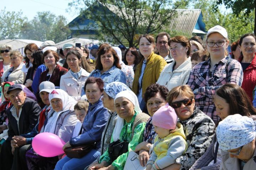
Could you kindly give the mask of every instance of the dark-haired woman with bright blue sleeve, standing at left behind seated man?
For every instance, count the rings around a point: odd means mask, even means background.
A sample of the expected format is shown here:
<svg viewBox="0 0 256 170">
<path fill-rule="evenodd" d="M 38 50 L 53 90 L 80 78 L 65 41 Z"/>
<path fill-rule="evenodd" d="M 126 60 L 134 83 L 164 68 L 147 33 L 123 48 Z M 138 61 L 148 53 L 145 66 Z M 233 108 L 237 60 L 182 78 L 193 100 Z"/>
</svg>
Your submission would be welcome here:
<svg viewBox="0 0 256 170">
<path fill-rule="evenodd" d="M 33 66 L 28 69 L 24 85 L 28 87 L 36 95 L 38 92 L 39 78 L 42 72 L 46 70 L 46 66 L 42 63 L 43 52 L 35 51 L 32 55 Z"/>
</svg>

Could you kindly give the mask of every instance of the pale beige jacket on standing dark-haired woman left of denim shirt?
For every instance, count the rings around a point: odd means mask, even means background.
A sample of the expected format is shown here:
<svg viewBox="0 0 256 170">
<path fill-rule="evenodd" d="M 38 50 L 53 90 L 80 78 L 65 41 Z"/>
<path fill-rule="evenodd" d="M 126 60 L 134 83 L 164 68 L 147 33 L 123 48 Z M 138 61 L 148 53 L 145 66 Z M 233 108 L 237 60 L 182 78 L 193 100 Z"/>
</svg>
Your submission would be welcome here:
<svg viewBox="0 0 256 170">
<path fill-rule="evenodd" d="M 86 79 L 90 75 L 90 73 L 86 72 L 83 68 L 80 67 L 80 69 L 82 69 L 82 73 L 78 80 L 73 77 L 71 70 L 60 78 L 60 89 L 67 92 L 68 95 L 73 97 L 76 101 L 81 99 L 82 88 L 84 87 Z"/>
</svg>

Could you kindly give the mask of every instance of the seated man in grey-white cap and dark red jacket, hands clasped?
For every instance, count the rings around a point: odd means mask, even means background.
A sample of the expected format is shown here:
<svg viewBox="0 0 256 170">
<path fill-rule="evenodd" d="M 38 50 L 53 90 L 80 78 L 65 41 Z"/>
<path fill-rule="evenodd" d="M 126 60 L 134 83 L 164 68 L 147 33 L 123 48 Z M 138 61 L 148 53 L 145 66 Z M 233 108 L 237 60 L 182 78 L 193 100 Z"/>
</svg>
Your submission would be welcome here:
<svg viewBox="0 0 256 170">
<path fill-rule="evenodd" d="M 39 116 L 39 122 L 35 126 L 35 128 L 28 134 L 23 134 L 21 136 L 14 136 L 12 137 L 13 141 L 12 142 L 12 149 L 15 148 L 14 151 L 14 162 L 12 165 L 13 170 L 23 170 L 27 169 L 27 162 L 26 162 L 26 152 L 31 149 L 31 143 L 41 129 L 43 128 L 44 125 L 44 120 L 46 119 L 46 116 L 50 109 L 52 108 L 50 106 L 50 101 L 49 101 L 49 93 L 55 89 L 55 86 L 52 82 L 50 81 L 43 81 L 39 85 L 39 96 L 41 97 L 42 101 L 46 106 L 42 109 L 40 112 Z M 19 152 L 17 151 L 19 150 Z M 20 154 L 17 154 L 20 153 Z"/>
</svg>

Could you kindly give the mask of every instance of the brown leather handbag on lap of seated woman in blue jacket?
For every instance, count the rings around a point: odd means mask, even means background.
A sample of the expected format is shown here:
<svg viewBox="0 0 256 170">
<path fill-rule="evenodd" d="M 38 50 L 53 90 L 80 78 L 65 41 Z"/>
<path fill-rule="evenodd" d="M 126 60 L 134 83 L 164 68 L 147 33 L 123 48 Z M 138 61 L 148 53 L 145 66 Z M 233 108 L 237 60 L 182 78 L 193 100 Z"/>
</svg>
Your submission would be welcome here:
<svg viewBox="0 0 256 170">
<path fill-rule="evenodd" d="M 95 148 L 95 143 L 89 143 L 86 145 L 65 148 L 64 152 L 69 158 L 82 158 L 93 148 Z"/>
</svg>

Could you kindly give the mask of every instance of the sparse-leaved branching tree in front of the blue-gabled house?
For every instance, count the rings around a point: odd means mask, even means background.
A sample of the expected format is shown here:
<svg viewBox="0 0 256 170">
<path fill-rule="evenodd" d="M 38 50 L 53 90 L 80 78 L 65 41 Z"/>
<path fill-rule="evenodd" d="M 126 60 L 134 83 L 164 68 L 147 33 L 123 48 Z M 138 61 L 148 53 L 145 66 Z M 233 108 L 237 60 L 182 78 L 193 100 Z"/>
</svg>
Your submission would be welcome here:
<svg viewBox="0 0 256 170">
<path fill-rule="evenodd" d="M 74 0 L 70 6 L 84 4 L 81 16 L 91 20 L 97 38 L 136 46 L 139 34 L 155 34 L 170 25 L 179 5 L 172 0 Z M 86 29 L 86 28 L 85 28 Z"/>
</svg>

